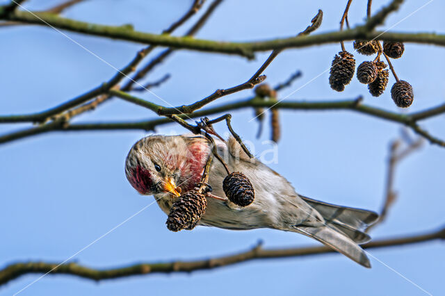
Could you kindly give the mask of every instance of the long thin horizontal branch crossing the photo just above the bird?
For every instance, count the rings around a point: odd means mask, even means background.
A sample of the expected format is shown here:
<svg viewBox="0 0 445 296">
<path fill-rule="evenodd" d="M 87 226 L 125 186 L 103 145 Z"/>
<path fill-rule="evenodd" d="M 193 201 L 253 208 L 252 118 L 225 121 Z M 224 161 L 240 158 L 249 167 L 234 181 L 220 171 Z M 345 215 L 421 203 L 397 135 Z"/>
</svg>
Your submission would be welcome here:
<svg viewBox="0 0 445 296">
<path fill-rule="evenodd" d="M 145 101 L 143 99 L 139 99 L 138 97 L 134 97 L 130 94 L 127 94 L 119 90 L 111 90 L 111 93 L 113 95 L 119 95 L 120 98 L 126 101 L 130 101 L 133 104 L 138 104 L 139 106 L 143 106 L 157 113 L 159 113 L 159 110 L 163 110 L 164 108 L 163 106 L 154 104 L 149 101 Z M 279 103 L 276 103 L 275 101 L 265 101 L 260 97 L 254 97 L 250 99 L 236 101 L 234 103 L 223 104 L 213 108 L 198 110 L 193 113 L 180 114 L 178 116 L 181 117 L 182 119 L 200 118 L 208 115 L 216 115 L 218 113 L 227 113 L 227 111 L 238 110 L 241 108 L 259 108 L 259 107 L 270 108 L 272 106 L 273 108 L 289 109 L 289 110 L 352 110 L 358 113 L 371 115 L 373 117 L 377 117 L 382 120 L 389 120 L 390 122 L 397 122 L 399 124 L 403 124 L 413 129 L 413 131 L 415 131 L 416 133 L 421 134 L 432 144 L 442 143 L 441 140 L 438 140 L 437 138 L 432 138 L 432 136 L 426 133 L 426 131 L 421 130 L 419 126 L 417 126 L 415 123 L 413 124 L 412 115 L 393 113 L 380 108 L 375 108 L 373 106 L 367 106 L 361 104 L 361 101 L 362 98 L 359 97 L 357 99 L 348 99 L 343 101 L 280 101 Z M 442 108 L 442 105 L 438 106 L 438 108 Z M 443 112 L 445 113 L 445 110 Z M 419 113 L 412 113 L 412 114 L 419 114 Z M 423 114 L 423 111 L 420 114 Z M 421 120 L 425 120 L 429 117 L 438 115 L 439 113 L 431 112 L 431 109 L 428 109 L 428 114 L 429 116 L 423 115 Z M 0 122 L 1 120 L 2 117 L 0 117 Z M 48 124 L 44 124 L 42 126 L 38 126 L 32 129 L 25 129 L 22 131 L 9 133 L 6 135 L 1 135 L 0 144 L 17 140 L 20 138 L 26 138 L 30 135 L 46 133 L 48 131 L 94 131 L 94 130 L 102 131 L 102 130 L 130 130 L 130 129 L 154 131 L 156 126 L 161 126 L 163 124 L 168 124 L 170 122 L 172 121 L 169 118 L 156 118 L 153 120 L 147 120 L 142 122 L 106 122 L 106 123 L 82 123 L 82 124 L 67 124 L 66 122 L 58 122 L 57 124 L 54 122 L 50 122 Z M 421 132 L 419 132 L 419 130 Z M 430 140 L 430 138 L 432 138 L 433 140 Z"/>
</svg>

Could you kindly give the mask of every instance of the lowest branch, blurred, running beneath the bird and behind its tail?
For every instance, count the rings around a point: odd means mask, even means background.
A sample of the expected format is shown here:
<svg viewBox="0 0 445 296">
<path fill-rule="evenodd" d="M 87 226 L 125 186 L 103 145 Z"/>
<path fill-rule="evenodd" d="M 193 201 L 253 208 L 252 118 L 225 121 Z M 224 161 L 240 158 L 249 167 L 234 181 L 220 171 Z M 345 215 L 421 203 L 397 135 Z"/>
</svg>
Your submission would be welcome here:
<svg viewBox="0 0 445 296">
<path fill-rule="evenodd" d="M 375 240 L 362 245 L 364 249 L 373 249 L 380 247 L 393 247 L 399 245 L 408 245 L 418 242 L 428 242 L 432 240 L 445 239 L 445 228 L 439 231 L 430 231 L 420 235 L 404 236 L 400 238 L 389 238 L 385 240 Z M 122 277 L 131 277 L 142 274 L 172 273 L 172 272 L 193 272 L 196 270 L 210 270 L 221 268 L 228 265 L 234 265 L 252 260 L 268 258 L 288 258 L 298 256 L 312 256 L 319 254 L 335 253 L 329 247 L 298 247 L 291 249 L 263 249 L 261 244 L 252 249 L 232 254 L 198 261 L 170 261 L 158 263 L 138 263 L 123 268 L 97 270 L 87 268 L 76 263 L 44 263 L 38 261 L 29 261 L 24 263 L 13 263 L 3 270 L 0 270 L 0 285 L 4 285 L 13 279 L 17 279 L 24 274 L 47 273 L 50 274 L 70 274 L 84 279 L 102 281 L 104 279 L 117 279 Z"/>
</svg>

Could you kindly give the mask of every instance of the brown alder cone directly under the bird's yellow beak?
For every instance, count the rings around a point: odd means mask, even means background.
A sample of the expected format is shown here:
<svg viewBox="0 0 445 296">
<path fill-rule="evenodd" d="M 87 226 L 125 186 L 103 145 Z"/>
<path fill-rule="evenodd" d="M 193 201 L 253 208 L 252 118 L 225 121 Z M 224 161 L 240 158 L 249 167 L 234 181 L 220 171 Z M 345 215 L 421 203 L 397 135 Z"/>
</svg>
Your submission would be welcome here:
<svg viewBox="0 0 445 296">
<path fill-rule="evenodd" d="M 170 231 L 191 230 L 206 213 L 207 199 L 197 190 L 190 190 L 178 197 L 168 214 L 167 228 Z"/>
</svg>

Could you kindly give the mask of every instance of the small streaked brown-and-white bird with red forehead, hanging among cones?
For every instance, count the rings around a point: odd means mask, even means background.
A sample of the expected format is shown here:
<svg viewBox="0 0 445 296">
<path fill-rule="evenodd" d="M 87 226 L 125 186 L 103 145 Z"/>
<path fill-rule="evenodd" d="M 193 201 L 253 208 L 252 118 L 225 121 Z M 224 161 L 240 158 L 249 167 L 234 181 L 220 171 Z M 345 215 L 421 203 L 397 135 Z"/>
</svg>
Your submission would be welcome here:
<svg viewBox="0 0 445 296">
<path fill-rule="evenodd" d="M 378 214 L 358 208 L 336 206 L 298 195 L 283 176 L 250 158 L 233 138 L 214 140 L 218 154 L 231 172 L 241 172 L 254 188 L 254 202 L 241 207 L 227 199 L 225 167 L 212 158 L 207 208 L 200 225 L 223 229 L 270 228 L 302 233 L 331 247 L 353 261 L 371 268 L 359 244 L 371 240 L 366 231 Z M 154 195 L 165 213 L 172 204 L 200 183 L 213 144 L 203 135 L 150 135 L 131 147 L 125 173 L 142 195 Z"/>
</svg>

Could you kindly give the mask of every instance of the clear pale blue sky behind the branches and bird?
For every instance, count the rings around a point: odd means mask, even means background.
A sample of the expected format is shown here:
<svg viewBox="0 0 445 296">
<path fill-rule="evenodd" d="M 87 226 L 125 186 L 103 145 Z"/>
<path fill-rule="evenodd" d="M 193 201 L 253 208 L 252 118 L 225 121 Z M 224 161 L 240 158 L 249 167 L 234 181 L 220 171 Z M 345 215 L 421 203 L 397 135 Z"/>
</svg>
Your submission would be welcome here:
<svg viewBox="0 0 445 296">
<path fill-rule="evenodd" d="M 90 0 L 67 10 L 65 16 L 101 24 L 133 24 L 139 31 L 160 32 L 177 19 L 190 1 Z M 208 1 L 209 2 L 209 1 Z M 346 1 L 344 1 L 346 4 Z M 387 1 L 373 1 L 373 11 Z M 382 28 L 389 28 L 428 1 L 407 1 Z M 6 1 L 1 1 L 6 3 Z M 29 9 L 44 9 L 58 1 L 32 0 Z M 213 40 L 264 40 L 295 35 L 321 8 L 323 24 L 318 32 L 338 27 L 343 3 L 337 1 L 225 1 L 197 35 Z M 395 31 L 444 33 L 443 1 L 432 1 L 394 27 Z M 366 1 L 354 1 L 350 23 L 362 22 Z M 193 22 L 193 21 L 192 21 Z M 184 33 L 186 28 L 178 30 Z M 127 65 L 141 44 L 67 33 L 107 65 L 51 28 L 17 26 L 2 28 L 0 47 L 1 114 L 44 110 L 86 92 L 108 80 L 115 69 Z M 346 44 L 352 51 L 352 44 Z M 275 85 L 300 69 L 301 79 L 280 93 L 293 92 L 330 67 L 339 44 L 284 51 L 265 74 Z M 159 51 L 155 51 L 159 52 Z M 155 54 L 154 53 L 154 54 Z M 268 54 L 247 61 L 236 56 L 178 51 L 147 78 L 165 73 L 171 79 L 153 91 L 172 105 L 189 104 L 250 78 Z M 367 57 L 355 55 L 357 65 Z M 398 76 L 415 92 L 410 111 L 444 102 L 444 49 L 406 44 L 403 58 L 394 60 Z M 344 92 L 330 89 L 328 72 L 305 85 L 289 99 L 334 100 L 364 95 L 364 103 L 402 112 L 389 91 L 374 98 L 366 87 L 353 81 Z M 389 85 L 394 83 L 390 78 Z M 246 98 L 250 90 L 220 99 L 219 103 Z M 138 94 L 165 104 L 152 94 Z M 218 101 L 213 104 L 216 106 Z M 278 163 L 272 167 L 286 176 L 298 192 L 325 202 L 380 209 L 385 185 L 388 145 L 401 126 L 348 111 L 282 112 L 282 140 Z M 257 122 L 252 110 L 232 113 L 233 126 L 254 142 L 257 154 L 270 145 L 269 130 L 256 140 Z M 141 120 L 155 117 L 143 108 L 114 99 L 75 122 Z M 445 138 L 443 115 L 421 123 Z M 26 125 L 1 125 L 7 132 Z M 218 131 L 224 132 L 223 125 Z M 184 133 L 168 125 L 159 133 Z M 124 177 L 124 158 L 129 148 L 147 133 L 106 131 L 47 133 L 0 146 L 0 265 L 14 261 L 60 262 L 113 229 L 153 202 L 141 197 Z M 421 151 L 398 167 L 398 201 L 385 224 L 371 235 L 393 235 L 432 230 L 444 224 L 445 150 L 426 143 Z M 166 216 L 156 206 L 134 216 L 122 226 L 75 256 L 72 261 L 93 268 L 112 268 L 140 261 L 207 258 L 252 247 L 296 247 L 316 242 L 296 233 L 268 229 L 227 231 L 198 227 L 172 233 Z M 252 261 L 193 274 L 154 274 L 94 283 L 76 277 L 47 276 L 21 295 L 424 295 L 413 283 L 433 295 L 443 293 L 444 245 L 428 242 L 406 247 L 370 249 L 373 268 L 367 270 L 337 254 L 307 258 Z M 380 262 L 381 261 L 381 262 Z M 396 272 L 395 272 L 396 271 Z M 399 274 L 398 274 L 399 273 Z M 404 279 L 403 277 L 406 277 Z M 10 295 L 40 275 L 30 274 L 0 288 Z M 413 283 L 410 283 L 410 281 Z"/>
</svg>

